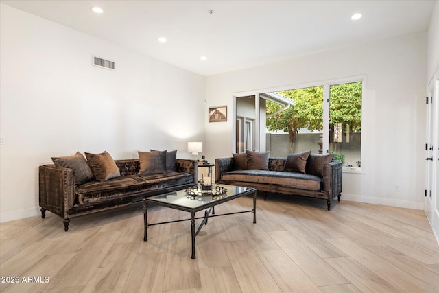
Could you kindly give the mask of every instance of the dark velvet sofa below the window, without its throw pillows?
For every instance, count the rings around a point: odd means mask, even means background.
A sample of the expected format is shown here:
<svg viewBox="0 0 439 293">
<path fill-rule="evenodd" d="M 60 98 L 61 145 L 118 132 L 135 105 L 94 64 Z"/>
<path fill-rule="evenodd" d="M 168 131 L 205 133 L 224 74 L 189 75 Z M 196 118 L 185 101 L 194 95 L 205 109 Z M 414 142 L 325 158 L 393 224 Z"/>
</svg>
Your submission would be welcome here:
<svg viewBox="0 0 439 293">
<path fill-rule="evenodd" d="M 307 174 L 316 172 L 287 172 L 286 163 L 285 158 L 268 158 L 266 169 L 253 169 L 251 166 L 237 168 L 239 164 L 236 157 L 219 158 L 215 160 L 215 183 L 254 187 L 264 192 L 265 200 L 268 193 L 322 198 L 327 200 L 328 211 L 335 196 L 340 201 L 343 170 L 341 162 L 322 163 L 321 176 Z"/>
</svg>

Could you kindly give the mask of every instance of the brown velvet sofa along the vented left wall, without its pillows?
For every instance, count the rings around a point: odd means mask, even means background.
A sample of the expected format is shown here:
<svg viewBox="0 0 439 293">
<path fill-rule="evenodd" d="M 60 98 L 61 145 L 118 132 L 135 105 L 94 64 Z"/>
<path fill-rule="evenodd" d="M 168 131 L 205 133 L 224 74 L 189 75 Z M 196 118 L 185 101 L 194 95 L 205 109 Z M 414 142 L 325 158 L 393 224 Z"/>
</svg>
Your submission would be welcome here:
<svg viewBox="0 0 439 293">
<path fill-rule="evenodd" d="M 176 159 L 172 172 L 160 174 L 139 174 L 139 159 L 114 162 L 120 176 L 82 184 L 75 184 L 77 180 L 71 168 L 54 164 L 39 166 L 42 218 L 45 218 L 46 211 L 59 215 L 64 219 L 64 230 L 67 231 L 70 218 L 123 207 L 147 196 L 185 189 L 198 180 L 198 161 L 194 160 Z"/>
</svg>

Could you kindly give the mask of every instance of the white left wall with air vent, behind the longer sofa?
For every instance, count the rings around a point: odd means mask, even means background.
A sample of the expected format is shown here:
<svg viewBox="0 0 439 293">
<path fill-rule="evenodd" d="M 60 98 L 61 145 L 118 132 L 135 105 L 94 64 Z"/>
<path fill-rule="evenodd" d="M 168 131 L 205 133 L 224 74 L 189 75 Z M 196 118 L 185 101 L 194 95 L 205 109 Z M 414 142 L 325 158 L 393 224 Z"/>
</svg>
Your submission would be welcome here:
<svg viewBox="0 0 439 293">
<path fill-rule="evenodd" d="M 1 222 L 38 213 L 38 165 L 51 156 L 191 158 L 187 141 L 204 138 L 204 77 L 0 5 Z"/>
</svg>

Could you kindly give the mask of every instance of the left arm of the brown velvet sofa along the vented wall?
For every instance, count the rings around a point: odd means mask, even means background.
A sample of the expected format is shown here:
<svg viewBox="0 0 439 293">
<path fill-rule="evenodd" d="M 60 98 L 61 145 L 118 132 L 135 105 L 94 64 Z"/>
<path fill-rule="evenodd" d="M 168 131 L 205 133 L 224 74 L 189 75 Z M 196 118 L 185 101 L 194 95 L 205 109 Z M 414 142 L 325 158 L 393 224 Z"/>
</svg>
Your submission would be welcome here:
<svg viewBox="0 0 439 293">
<path fill-rule="evenodd" d="M 75 204 L 75 172 L 56 165 L 38 167 L 40 207 L 67 219 Z"/>
</svg>

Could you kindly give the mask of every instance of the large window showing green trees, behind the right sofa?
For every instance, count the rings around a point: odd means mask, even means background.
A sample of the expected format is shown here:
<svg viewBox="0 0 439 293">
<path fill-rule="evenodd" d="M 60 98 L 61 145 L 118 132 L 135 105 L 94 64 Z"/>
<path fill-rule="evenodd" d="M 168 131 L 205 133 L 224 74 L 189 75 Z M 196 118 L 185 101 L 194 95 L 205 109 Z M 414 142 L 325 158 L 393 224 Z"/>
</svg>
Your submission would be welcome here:
<svg viewBox="0 0 439 293">
<path fill-rule="evenodd" d="M 333 153 L 345 169 L 361 167 L 362 78 L 255 93 L 246 98 L 249 97 L 260 97 L 259 103 L 250 102 L 252 149 L 270 151 L 272 157 L 308 150 L 315 154 Z M 242 98 L 236 98 L 237 108 Z M 289 103 L 285 103 L 286 99 Z M 260 117 L 255 115 L 258 111 Z M 246 128 L 244 120 L 239 123 L 240 129 Z M 237 121 L 237 129 L 238 125 Z M 248 149 L 239 147 L 239 142 L 248 144 L 244 135 L 242 132 L 241 138 L 237 136 L 238 152 Z"/>
</svg>

